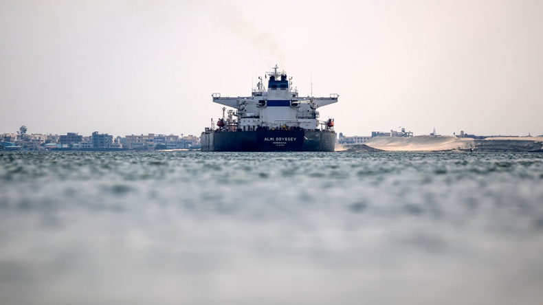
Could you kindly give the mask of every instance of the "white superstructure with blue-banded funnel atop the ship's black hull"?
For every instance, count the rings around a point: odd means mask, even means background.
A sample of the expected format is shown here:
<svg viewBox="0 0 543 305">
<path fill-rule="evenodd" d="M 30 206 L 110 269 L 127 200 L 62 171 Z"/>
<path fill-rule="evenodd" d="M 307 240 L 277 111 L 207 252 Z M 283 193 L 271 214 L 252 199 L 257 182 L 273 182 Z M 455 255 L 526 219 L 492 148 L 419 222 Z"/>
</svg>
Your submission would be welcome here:
<svg viewBox="0 0 543 305">
<path fill-rule="evenodd" d="M 287 79 L 285 71 L 279 72 L 277 65 L 274 71 L 267 72 L 265 78 L 269 78 L 267 89 L 262 77 L 258 77 L 258 84 L 249 97 L 223 98 L 220 93 L 213 93 L 213 102 L 237 110 L 235 113 L 228 111 L 228 117 L 223 111 L 225 128 L 241 131 L 256 130 L 259 126 L 317 129 L 319 124 L 326 123 L 318 121 L 317 109 L 337 102 L 339 96 L 333 93 L 329 98 L 300 97 L 298 90 L 292 88 L 292 78 Z"/>
</svg>

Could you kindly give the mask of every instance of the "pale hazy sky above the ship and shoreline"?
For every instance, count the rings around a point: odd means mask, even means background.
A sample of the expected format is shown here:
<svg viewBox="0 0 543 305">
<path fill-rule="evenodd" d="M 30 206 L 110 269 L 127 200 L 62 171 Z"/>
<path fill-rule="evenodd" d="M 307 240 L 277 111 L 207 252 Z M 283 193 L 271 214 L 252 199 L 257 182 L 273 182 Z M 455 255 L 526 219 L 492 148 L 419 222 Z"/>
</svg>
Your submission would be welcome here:
<svg viewBox="0 0 543 305">
<path fill-rule="evenodd" d="M 199 135 L 276 63 L 336 131 L 543 134 L 543 1 L 0 1 L 0 133 Z"/>
</svg>

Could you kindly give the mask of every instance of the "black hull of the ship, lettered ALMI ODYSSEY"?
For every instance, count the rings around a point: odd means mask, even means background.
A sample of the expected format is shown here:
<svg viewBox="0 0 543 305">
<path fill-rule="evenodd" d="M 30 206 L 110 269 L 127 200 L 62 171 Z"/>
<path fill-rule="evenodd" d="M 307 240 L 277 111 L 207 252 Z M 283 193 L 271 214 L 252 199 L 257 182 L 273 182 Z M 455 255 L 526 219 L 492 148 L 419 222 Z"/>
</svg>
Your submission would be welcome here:
<svg viewBox="0 0 543 305">
<path fill-rule="evenodd" d="M 327 131 L 232 131 L 203 133 L 201 151 L 334 151 Z"/>
</svg>

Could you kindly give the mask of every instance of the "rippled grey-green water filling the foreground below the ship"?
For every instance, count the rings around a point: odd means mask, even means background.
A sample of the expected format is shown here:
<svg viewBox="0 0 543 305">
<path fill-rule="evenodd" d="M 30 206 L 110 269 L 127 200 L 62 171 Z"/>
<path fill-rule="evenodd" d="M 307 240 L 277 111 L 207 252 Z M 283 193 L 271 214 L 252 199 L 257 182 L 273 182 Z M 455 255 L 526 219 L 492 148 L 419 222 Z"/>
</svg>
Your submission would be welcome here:
<svg viewBox="0 0 543 305">
<path fill-rule="evenodd" d="M 2 304 L 541 304 L 543 155 L 0 153 Z"/>
</svg>

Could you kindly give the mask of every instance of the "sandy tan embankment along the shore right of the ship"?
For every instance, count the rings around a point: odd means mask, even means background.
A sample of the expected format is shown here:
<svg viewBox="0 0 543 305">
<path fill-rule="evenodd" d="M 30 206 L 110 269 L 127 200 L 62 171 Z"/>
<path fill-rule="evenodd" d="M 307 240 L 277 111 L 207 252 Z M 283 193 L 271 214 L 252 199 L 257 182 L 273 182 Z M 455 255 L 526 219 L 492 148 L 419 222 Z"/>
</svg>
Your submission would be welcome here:
<svg viewBox="0 0 543 305">
<path fill-rule="evenodd" d="M 480 151 L 480 152 L 531 152 L 543 151 L 543 137 L 491 137 L 482 140 L 451 136 L 419 135 L 417 137 L 374 137 L 366 147 L 344 150 L 371 151 Z"/>
</svg>

